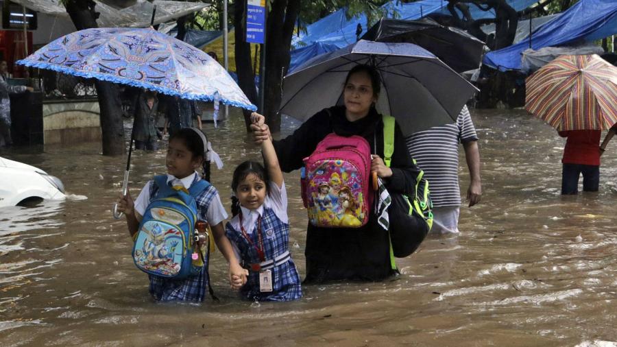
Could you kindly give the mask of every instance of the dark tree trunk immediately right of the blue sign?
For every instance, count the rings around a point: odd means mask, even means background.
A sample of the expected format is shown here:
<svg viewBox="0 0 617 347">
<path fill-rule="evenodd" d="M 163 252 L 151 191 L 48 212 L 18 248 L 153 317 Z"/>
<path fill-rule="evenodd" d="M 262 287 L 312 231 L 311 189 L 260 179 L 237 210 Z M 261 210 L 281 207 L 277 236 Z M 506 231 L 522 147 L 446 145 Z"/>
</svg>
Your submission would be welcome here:
<svg viewBox="0 0 617 347">
<path fill-rule="evenodd" d="M 275 0 L 267 19 L 264 116 L 273 132 L 280 131 L 282 77 L 289 69 L 291 36 L 300 0 Z"/>
</svg>

